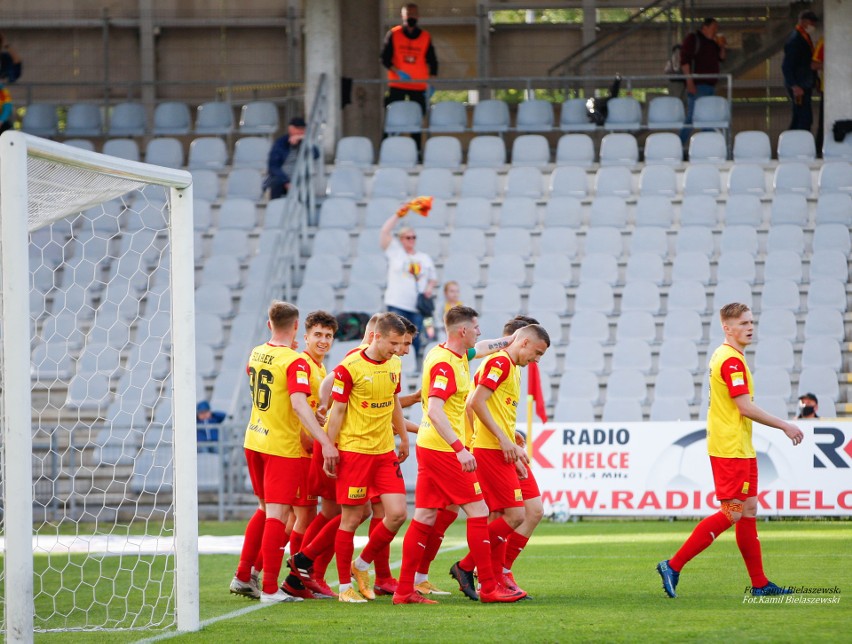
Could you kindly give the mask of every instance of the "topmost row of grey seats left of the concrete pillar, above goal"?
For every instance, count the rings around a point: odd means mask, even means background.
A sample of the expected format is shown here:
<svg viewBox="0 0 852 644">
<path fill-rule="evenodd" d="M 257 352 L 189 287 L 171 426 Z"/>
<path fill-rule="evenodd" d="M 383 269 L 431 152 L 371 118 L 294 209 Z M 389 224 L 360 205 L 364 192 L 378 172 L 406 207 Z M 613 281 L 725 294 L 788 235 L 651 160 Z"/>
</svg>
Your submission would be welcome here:
<svg viewBox="0 0 852 644">
<path fill-rule="evenodd" d="M 21 129 L 42 137 L 127 137 L 199 135 L 227 136 L 237 131 L 245 135 L 271 136 L 278 130 L 278 106 L 270 101 L 254 101 L 240 109 L 237 128 L 230 103 L 210 101 L 196 109 L 195 123 L 189 105 L 164 101 L 154 108 L 153 124 L 142 103 L 126 102 L 104 108 L 97 103 L 75 103 L 68 108 L 65 128 L 60 132 L 55 103 L 31 103 L 24 113 Z"/>
</svg>

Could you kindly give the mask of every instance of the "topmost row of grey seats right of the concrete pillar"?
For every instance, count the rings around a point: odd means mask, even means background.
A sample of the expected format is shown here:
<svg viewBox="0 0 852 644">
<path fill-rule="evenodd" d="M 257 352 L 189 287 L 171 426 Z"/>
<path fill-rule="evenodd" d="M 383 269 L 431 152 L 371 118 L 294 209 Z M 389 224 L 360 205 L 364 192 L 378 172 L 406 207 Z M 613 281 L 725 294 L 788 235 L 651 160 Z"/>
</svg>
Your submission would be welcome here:
<svg viewBox="0 0 852 644">
<path fill-rule="evenodd" d="M 464 103 L 443 101 L 429 107 L 429 125 L 423 127 L 423 111 L 413 101 L 395 101 L 385 112 L 387 134 L 428 131 L 446 132 L 497 132 L 514 129 L 518 132 L 592 131 L 598 126 L 589 120 L 586 99 L 571 98 L 562 103 L 558 121 L 553 103 L 529 100 L 518 105 L 514 127 L 509 105 L 505 101 L 489 99 L 474 105 L 471 125 L 468 127 L 467 107 Z M 648 103 L 647 119 L 642 118 L 642 104 L 633 97 L 611 98 L 607 102 L 605 130 L 673 130 L 684 126 L 683 101 L 674 96 L 658 96 Z M 695 102 L 693 127 L 727 129 L 731 122 L 731 106 L 721 96 L 703 96 Z"/>
</svg>

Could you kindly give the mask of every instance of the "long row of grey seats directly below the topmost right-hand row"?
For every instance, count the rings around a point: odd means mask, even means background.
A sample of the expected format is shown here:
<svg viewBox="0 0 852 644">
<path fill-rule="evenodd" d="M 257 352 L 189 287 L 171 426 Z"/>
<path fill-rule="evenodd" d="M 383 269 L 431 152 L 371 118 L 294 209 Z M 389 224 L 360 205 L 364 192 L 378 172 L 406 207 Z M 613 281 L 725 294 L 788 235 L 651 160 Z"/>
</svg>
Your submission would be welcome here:
<svg viewBox="0 0 852 644">
<path fill-rule="evenodd" d="M 734 162 L 767 165 L 771 161 L 769 136 L 765 132 L 740 132 L 734 138 Z M 467 167 L 500 167 L 507 163 L 506 142 L 498 136 L 479 135 L 471 139 L 467 149 Z M 644 144 L 644 162 L 679 166 L 683 163 L 683 144 L 671 132 L 655 132 Z M 689 160 L 693 163 L 723 164 L 727 160 L 727 144 L 718 132 L 699 132 L 689 142 Z M 639 163 L 639 143 L 633 134 L 611 133 L 603 137 L 597 157 L 602 166 L 635 167 Z M 548 140 L 541 134 L 523 134 L 512 143 L 511 164 L 543 168 L 555 161 L 557 166 L 584 168 L 595 163 L 595 149 L 588 134 L 563 134 L 553 158 Z M 337 142 L 337 166 L 372 167 L 375 159 L 373 143 L 367 137 L 344 137 Z M 789 130 L 778 137 L 778 160 L 812 164 L 816 159 L 814 137 L 804 130 Z M 409 137 L 389 137 L 379 148 L 378 165 L 413 169 L 419 163 L 418 150 Z M 460 170 L 462 145 L 451 136 L 434 136 L 426 141 L 424 168 Z"/>
</svg>

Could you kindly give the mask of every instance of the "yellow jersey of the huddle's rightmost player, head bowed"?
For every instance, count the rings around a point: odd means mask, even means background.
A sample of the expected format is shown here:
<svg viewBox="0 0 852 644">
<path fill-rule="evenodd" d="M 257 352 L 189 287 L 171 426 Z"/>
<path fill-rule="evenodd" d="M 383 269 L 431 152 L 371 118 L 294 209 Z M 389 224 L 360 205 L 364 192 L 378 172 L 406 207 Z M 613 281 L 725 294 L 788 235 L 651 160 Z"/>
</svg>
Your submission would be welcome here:
<svg viewBox="0 0 852 644">
<path fill-rule="evenodd" d="M 494 393 L 488 397 L 488 411 L 506 436 L 515 442 L 518 420 L 518 400 L 521 396 L 521 370 L 505 351 L 498 351 L 483 362 L 473 376 L 474 387 L 482 385 Z M 485 424 L 475 417 L 474 447 L 500 449 L 500 441 Z"/>
</svg>

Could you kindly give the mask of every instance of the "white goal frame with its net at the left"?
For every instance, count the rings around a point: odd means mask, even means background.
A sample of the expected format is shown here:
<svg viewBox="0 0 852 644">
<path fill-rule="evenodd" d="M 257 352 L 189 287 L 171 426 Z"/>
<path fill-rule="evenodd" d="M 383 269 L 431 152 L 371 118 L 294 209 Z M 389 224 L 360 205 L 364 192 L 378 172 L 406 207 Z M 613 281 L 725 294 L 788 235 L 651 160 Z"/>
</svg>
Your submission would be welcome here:
<svg viewBox="0 0 852 644">
<path fill-rule="evenodd" d="M 2 283 L 2 292 L 0 292 L 0 299 L 2 299 L 2 327 L 0 327 L 0 332 L 2 332 L 2 354 L 0 354 L 2 398 L 0 398 L 0 404 L 2 404 L 3 419 L 2 462 L 0 462 L 2 479 L 0 480 L 3 483 L 2 529 L 5 539 L 4 578 L 2 579 L 5 587 L 3 616 L 7 641 L 32 641 L 34 631 L 38 630 L 65 630 L 68 628 L 80 630 L 163 629 L 176 626 L 180 631 L 194 631 L 199 628 L 198 502 L 195 444 L 195 265 L 191 182 L 191 175 L 181 170 L 108 157 L 39 139 L 21 132 L 10 131 L 0 136 L 0 283 Z M 160 387 L 157 391 L 162 391 L 159 394 L 160 398 L 157 399 L 157 404 L 162 405 L 163 408 L 168 406 L 166 413 L 170 433 L 168 440 L 157 440 L 156 450 L 159 450 L 158 454 L 164 455 L 163 471 L 169 472 L 168 485 L 171 490 L 170 505 L 165 510 L 158 510 L 160 514 L 155 516 L 155 519 L 158 519 L 161 524 L 167 525 L 168 529 L 161 531 L 160 534 L 150 536 L 155 537 L 153 539 L 155 553 L 165 551 L 172 558 L 172 561 L 163 566 L 161 581 L 162 585 L 169 586 L 164 596 L 168 598 L 168 601 L 165 602 L 168 604 L 167 612 L 173 615 L 165 619 L 155 620 L 153 626 L 139 619 L 138 614 L 134 615 L 132 619 L 116 618 L 114 614 L 111 614 L 113 607 L 109 605 L 112 598 L 101 600 L 101 603 L 97 604 L 99 599 L 96 597 L 95 610 L 106 615 L 102 622 L 89 621 L 86 618 L 82 626 L 76 624 L 69 626 L 67 623 L 60 623 L 58 628 L 55 628 L 39 616 L 38 596 L 34 594 L 34 576 L 36 574 L 40 575 L 39 585 L 42 588 L 53 583 L 54 580 L 58 580 L 60 584 L 65 581 L 69 582 L 70 587 L 68 588 L 44 593 L 46 600 L 43 603 L 51 604 L 52 602 L 52 610 L 55 615 L 62 616 L 65 615 L 66 610 L 70 610 L 66 607 L 57 608 L 60 596 L 74 595 L 80 588 L 83 588 L 81 591 L 83 594 L 88 590 L 90 595 L 97 596 L 100 590 L 97 588 L 97 580 L 87 578 L 90 568 L 87 567 L 85 562 L 76 558 L 78 555 L 69 554 L 71 550 L 61 553 L 62 556 L 67 555 L 67 560 L 71 564 L 69 568 L 36 572 L 34 569 L 36 559 L 34 549 L 39 535 L 36 530 L 38 519 L 35 517 L 34 509 L 50 507 L 53 513 L 51 515 L 52 523 L 43 525 L 49 525 L 55 535 L 61 537 L 68 531 L 68 525 L 73 525 L 73 536 L 78 541 L 86 541 L 86 538 L 82 538 L 80 526 L 75 522 L 80 516 L 83 517 L 80 521 L 91 516 L 97 518 L 107 516 L 103 512 L 96 513 L 92 510 L 92 505 L 97 499 L 100 499 L 104 506 L 109 505 L 109 501 L 106 500 L 108 499 L 106 490 L 97 490 L 99 496 L 94 492 L 81 492 L 78 489 L 81 487 L 81 482 L 75 480 L 77 473 L 87 472 L 87 468 L 99 465 L 86 462 L 86 459 L 91 458 L 90 455 L 96 453 L 98 449 L 96 441 L 89 439 L 87 439 L 89 442 L 85 443 L 82 448 L 71 444 L 64 451 L 52 453 L 53 461 L 59 463 L 58 474 L 48 480 L 52 490 L 48 493 L 48 496 L 50 494 L 53 496 L 42 505 L 39 505 L 40 502 L 37 502 L 34 498 L 35 481 L 39 474 L 34 472 L 33 469 L 33 462 L 36 458 L 33 450 L 33 434 L 35 431 L 39 431 L 38 425 L 42 419 L 45 420 L 45 424 L 49 425 L 46 430 L 41 429 L 43 433 L 54 431 L 61 425 L 61 422 L 53 420 L 48 422 L 47 414 L 36 420 L 35 427 L 33 422 L 35 412 L 30 374 L 34 370 L 31 348 L 34 322 L 30 313 L 33 281 L 29 270 L 30 236 L 42 228 L 66 220 L 70 221 L 68 230 L 74 231 L 75 225 L 79 227 L 79 224 L 74 220 L 74 217 L 78 216 L 79 213 L 98 207 L 106 213 L 107 208 L 104 204 L 115 199 L 126 198 L 130 194 L 141 195 L 144 200 L 144 190 L 149 186 L 161 190 L 162 194 L 165 195 L 163 197 L 165 203 L 153 204 L 160 208 L 163 228 L 160 231 L 152 232 L 149 236 L 152 240 L 159 240 L 156 243 L 159 244 L 157 248 L 160 248 L 162 256 L 153 260 L 148 270 L 153 274 L 153 269 L 150 267 L 156 266 L 158 262 L 167 265 L 164 271 L 167 278 L 161 278 L 164 279 L 165 284 L 160 286 L 161 292 L 167 293 L 170 298 L 168 313 L 165 313 L 165 306 L 162 309 L 169 323 L 168 339 L 162 343 L 163 354 L 168 353 L 168 355 L 162 357 L 164 361 L 167 359 L 169 375 L 168 380 L 164 379 L 157 383 Z M 129 212 L 129 214 L 125 215 L 124 212 Z M 117 223 L 120 216 L 127 219 L 138 215 L 132 211 L 132 208 L 125 208 L 121 214 L 115 216 L 116 221 L 113 223 Z M 72 232 L 70 238 L 65 240 L 64 243 L 67 245 L 76 243 L 78 247 L 82 247 L 82 242 L 74 240 L 74 235 L 76 233 Z M 124 248 L 123 245 L 120 245 L 122 235 L 130 238 L 129 233 L 116 232 L 107 240 L 111 244 L 111 248 Z M 106 248 L 106 243 L 104 247 Z M 151 248 L 154 248 L 154 246 L 151 246 Z M 149 249 L 144 250 L 148 251 Z M 110 252 L 116 253 L 118 251 Z M 60 254 L 60 257 L 63 257 L 63 255 Z M 103 261 L 100 259 L 81 260 L 81 262 L 87 262 L 85 268 L 91 271 L 93 275 L 107 275 L 107 270 L 109 270 L 109 275 L 120 273 L 120 261 L 121 257 L 109 255 L 105 256 Z M 110 265 L 109 269 L 107 265 Z M 65 273 L 72 275 L 76 270 L 67 264 L 60 264 L 60 268 L 61 270 L 57 271 L 60 275 Z M 146 283 L 145 279 L 152 279 L 144 271 L 141 273 L 141 277 L 143 285 Z M 56 276 L 53 276 L 53 279 L 56 279 Z M 98 280 L 106 279 L 108 278 L 98 278 Z M 128 283 L 130 282 L 128 281 Z M 77 284 L 77 286 L 85 290 L 86 284 Z M 99 281 L 91 282 L 93 289 L 102 286 L 103 284 Z M 95 302 L 95 304 L 89 305 L 90 307 L 102 306 L 103 302 L 108 300 L 108 287 L 109 283 L 107 283 L 107 289 L 99 294 L 86 296 L 92 298 L 87 302 Z M 58 299 L 59 295 L 55 289 L 52 293 L 52 297 Z M 141 295 L 134 296 L 138 297 L 140 302 L 139 311 L 143 310 L 146 301 L 153 300 L 153 297 L 150 294 L 146 295 L 146 293 L 148 292 L 143 291 Z M 132 302 L 132 298 L 128 296 L 118 302 L 118 305 L 124 306 L 126 302 Z M 149 304 L 149 306 L 153 305 Z M 106 308 L 105 305 L 103 305 L 103 308 Z M 125 308 L 127 307 L 125 306 Z M 133 317 L 134 315 L 137 315 L 137 317 Z M 143 330 L 139 315 L 141 313 L 131 312 L 129 320 L 120 318 L 118 323 L 113 326 L 125 325 L 127 329 L 133 329 L 132 333 L 136 334 L 137 341 L 142 341 L 144 338 L 142 337 Z M 95 326 L 94 323 L 92 323 L 92 326 Z M 111 328 L 107 330 L 111 330 Z M 79 327 L 76 331 L 80 331 Z M 116 355 L 120 356 L 116 362 L 116 372 L 130 369 L 130 362 L 133 359 L 128 357 L 130 347 L 131 344 L 127 343 L 115 349 Z M 139 349 L 135 354 L 137 357 L 139 354 L 144 354 L 142 350 L 144 348 L 134 348 Z M 76 360 L 77 356 L 75 355 L 69 362 L 73 364 Z M 107 397 L 112 398 L 113 380 L 107 380 L 107 382 L 110 387 L 107 390 Z M 64 387 L 67 384 L 67 382 L 64 382 L 62 386 Z M 121 402 L 118 390 L 115 390 L 114 398 L 117 404 Z M 152 409 L 149 408 L 145 412 L 147 413 L 147 420 L 139 427 L 133 428 L 139 430 L 143 436 L 147 436 L 147 433 L 154 426 L 153 420 L 150 418 L 153 413 Z M 139 407 L 139 410 L 145 411 L 142 407 Z M 56 411 L 57 418 L 61 416 L 61 409 L 54 411 Z M 86 436 L 94 435 L 95 429 L 93 428 L 97 423 L 100 423 L 98 427 L 104 426 L 103 414 L 98 412 L 94 415 L 97 420 L 92 421 L 91 427 L 84 428 L 89 432 L 85 434 Z M 52 419 L 52 417 L 50 418 Z M 56 425 L 51 424 L 53 422 L 56 422 Z M 75 426 L 69 428 L 65 434 L 73 437 L 76 436 L 75 432 L 83 433 L 80 428 Z M 171 438 L 172 435 L 173 439 Z M 53 436 L 51 436 L 51 446 L 53 440 Z M 121 449 L 121 444 L 119 444 L 119 449 Z M 151 453 L 154 453 L 154 449 L 154 447 L 151 448 Z M 142 453 L 141 449 L 139 453 Z M 133 467 L 133 465 L 126 467 Z M 115 470 L 115 472 L 119 471 L 119 469 Z M 113 482 L 123 483 L 125 487 L 129 487 L 127 481 Z M 96 490 L 95 486 L 90 486 L 90 488 Z M 145 491 L 143 485 L 140 495 L 144 494 Z M 71 516 L 68 508 L 77 502 L 78 496 L 84 494 L 90 496 L 80 501 L 83 510 L 79 511 L 77 515 Z M 125 492 L 125 495 L 128 494 L 130 492 Z M 156 497 L 156 495 L 154 496 Z M 62 512 L 66 513 L 64 517 L 61 514 Z M 87 512 L 91 514 L 86 514 Z M 115 516 L 119 516 L 117 512 Z M 101 526 L 98 524 L 97 518 L 93 525 L 100 529 Z M 115 522 L 119 522 L 119 519 L 116 518 Z M 55 523 L 55 526 L 53 523 Z M 133 534 L 131 523 L 132 519 L 126 521 L 115 532 L 124 535 Z M 148 520 L 145 523 L 146 528 L 151 523 L 156 523 L 156 521 Z M 108 535 L 107 540 L 111 536 L 114 535 Z M 61 538 L 59 540 L 61 541 Z M 92 539 L 89 539 L 89 541 L 92 541 Z M 43 548 L 43 546 L 39 546 L 39 548 Z M 46 552 L 48 553 L 46 559 L 49 561 L 55 551 L 47 550 Z M 45 557 L 41 557 L 41 554 L 42 551 L 40 550 L 39 558 L 44 559 Z M 88 556 L 89 553 L 86 552 L 79 555 L 79 557 Z M 97 557 L 104 558 L 101 553 L 97 553 Z M 141 556 L 139 560 L 142 560 Z M 150 562 L 147 563 L 150 564 Z M 49 566 L 48 563 L 48 568 Z M 138 572 L 136 571 L 136 574 Z M 116 592 L 119 592 L 119 589 L 116 589 Z M 130 592 L 128 590 L 128 593 Z M 144 596 L 145 591 L 143 590 L 138 594 Z M 130 600 L 125 598 L 125 601 L 129 603 Z M 76 596 L 71 602 L 76 608 Z M 88 609 L 84 607 L 78 610 L 85 612 Z M 131 607 L 128 610 L 132 613 L 135 609 Z M 137 611 L 137 613 L 146 610 L 150 612 L 151 608 L 147 607 L 144 610 Z M 38 623 L 36 623 L 36 620 L 38 620 Z M 61 622 L 61 620 L 59 621 Z"/>
</svg>

